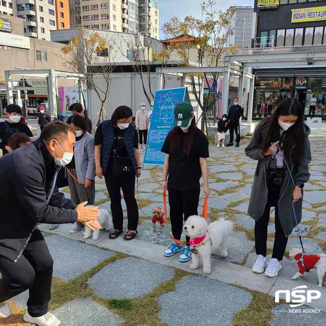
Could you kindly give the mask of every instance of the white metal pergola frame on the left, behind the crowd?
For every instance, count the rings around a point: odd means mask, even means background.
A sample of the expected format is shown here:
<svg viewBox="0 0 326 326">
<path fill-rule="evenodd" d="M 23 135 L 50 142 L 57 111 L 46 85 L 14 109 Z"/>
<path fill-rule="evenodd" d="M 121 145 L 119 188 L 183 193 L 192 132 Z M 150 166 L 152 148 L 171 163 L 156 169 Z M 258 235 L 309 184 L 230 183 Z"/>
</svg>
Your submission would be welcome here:
<svg viewBox="0 0 326 326">
<path fill-rule="evenodd" d="M 49 101 L 49 112 L 57 115 L 57 96 L 58 85 L 57 79 L 72 79 L 77 80 L 79 90 L 82 89 L 82 80 L 85 79 L 83 74 L 77 74 L 69 71 L 60 71 L 54 69 L 18 69 L 18 70 L 5 70 L 6 77 L 6 91 L 8 104 L 13 103 L 13 90 L 23 90 L 24 87 L 13 87 L 12 76 L 29 76 L 29 77 L 42 77 L 47 79 L 47 92 Z M 79 91 L 79 96 L 80 96 Z M 81 100 L 81 99 L 79 99 Z"/>
</svg>

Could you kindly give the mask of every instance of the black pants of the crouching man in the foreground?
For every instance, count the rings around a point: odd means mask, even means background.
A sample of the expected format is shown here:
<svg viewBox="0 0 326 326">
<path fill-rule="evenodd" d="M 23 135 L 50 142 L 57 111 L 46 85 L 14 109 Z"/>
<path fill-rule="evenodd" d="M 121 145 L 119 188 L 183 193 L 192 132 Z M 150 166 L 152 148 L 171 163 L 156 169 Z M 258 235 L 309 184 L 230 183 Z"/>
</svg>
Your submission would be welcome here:
<svg viewBox="0 0 326 326">
<path fill-rule="evenodd" d="M 0 303 L 29 289 L 29 314 L 43 316 L 51 298 L 52 270 L 52 257 L 41 232 L 36 230 L 18 262 L 0 256 Z"/>
</svg>

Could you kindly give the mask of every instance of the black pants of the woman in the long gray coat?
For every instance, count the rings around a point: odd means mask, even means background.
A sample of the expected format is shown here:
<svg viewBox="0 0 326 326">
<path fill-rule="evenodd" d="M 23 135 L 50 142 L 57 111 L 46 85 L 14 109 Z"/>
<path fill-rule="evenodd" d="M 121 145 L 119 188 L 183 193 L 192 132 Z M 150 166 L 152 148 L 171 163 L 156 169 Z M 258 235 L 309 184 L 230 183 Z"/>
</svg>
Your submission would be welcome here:
<svg viewBox="0 0 326 326">
<path fill-rule="evenodd" d="M 280 187 L 275 186 L 272 182 L 268 184 L 268 199 L 264 213 L 261 218 L 255 222 L 255 248 L 257 255 L 266 256 L 267 252 L 267 227 L 269 222 L 270 207 L 275 206 L 275 239 L 272 258 L 279 261 L 283 259 L 287 244 L 287 236 L 285 236 L 279 216 L 278 200 L 280 197 Z"/>
</svg>

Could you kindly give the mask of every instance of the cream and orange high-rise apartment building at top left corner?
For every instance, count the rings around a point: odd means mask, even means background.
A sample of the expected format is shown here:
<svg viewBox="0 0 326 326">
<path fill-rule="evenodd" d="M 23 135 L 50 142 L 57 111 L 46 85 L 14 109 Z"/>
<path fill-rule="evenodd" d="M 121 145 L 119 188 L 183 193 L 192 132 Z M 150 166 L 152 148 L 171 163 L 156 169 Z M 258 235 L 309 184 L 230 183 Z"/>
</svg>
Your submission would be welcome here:
<svg viewBox="0 0 326 326">
<path fill-rule="evenodd" d="M 1 0 L 0 13 L 24 19 L 24 35 L 50 40 L 50 31 L 70 27 L 69 0 Z"/>
</svg>

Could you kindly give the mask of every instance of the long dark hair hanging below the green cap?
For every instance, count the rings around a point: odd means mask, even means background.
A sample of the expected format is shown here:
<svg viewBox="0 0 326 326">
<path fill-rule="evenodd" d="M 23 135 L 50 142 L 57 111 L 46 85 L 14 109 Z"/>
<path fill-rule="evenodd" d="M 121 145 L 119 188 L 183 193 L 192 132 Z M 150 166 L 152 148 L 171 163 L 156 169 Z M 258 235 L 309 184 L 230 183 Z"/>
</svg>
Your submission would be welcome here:
<svg viewBox="0 0 326 326">
<path fill-rule="evenodd" d="M 182 144 L 182 135 L 183 131 L 179 127 L 174 127 L 169 135 L 169 141 L 170 141 L 170 153 L 171 154 L 176 154 L 180 153 L 181 148 L 183 149 L 183 154 L 189 156 L 191 149 L 192 149 L 192 144 L 195 138 L 195 130 L 196 130 L 196 119 L 195 117 L 192 120 L 191 125 L 189 126 L 188 129 L 188 141 L 186 146 L 185 144 Z"/>
</svg>

